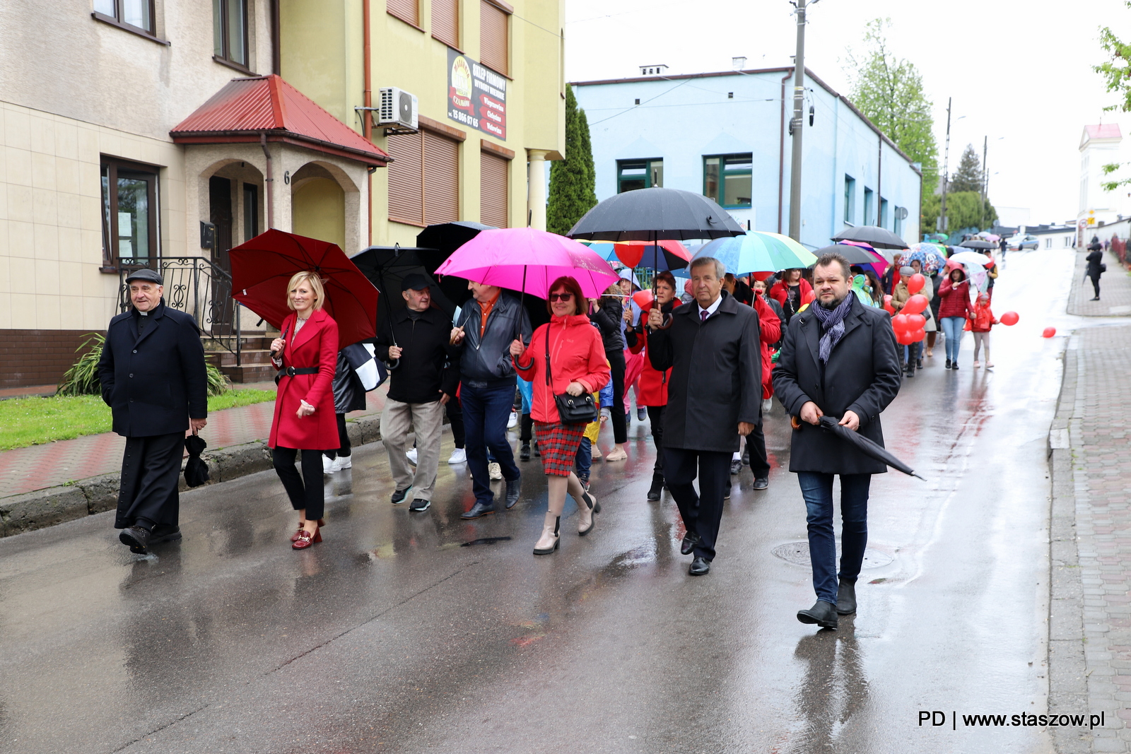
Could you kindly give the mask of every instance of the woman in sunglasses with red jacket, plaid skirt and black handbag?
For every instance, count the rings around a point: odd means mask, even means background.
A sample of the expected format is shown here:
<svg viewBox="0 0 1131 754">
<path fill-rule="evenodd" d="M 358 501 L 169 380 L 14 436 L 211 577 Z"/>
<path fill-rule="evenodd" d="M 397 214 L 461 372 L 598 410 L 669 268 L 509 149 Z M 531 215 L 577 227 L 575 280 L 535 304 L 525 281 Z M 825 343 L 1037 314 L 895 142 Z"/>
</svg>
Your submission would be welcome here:
<svg viewBox="0 0 1131 754">
<path fill-rule="evenodd" d="M 518 376 L 534 388 L 530 417 L 549 487 L 550 510 L 542 536 L 534 545 L 535 555 L 549 555 L 558 549 L 567 492 L 577 501 L 578 536 L 584 537 L 593 530 L 593 514 L 601 511 L 597 501 L 581 488 L 573 474 L 573 459 L 585 435 L 585 424 L 563 424 L 554 401 L 556 395 L 597 392 L 608 382 L 605 346 L 601 333 L 589 324 L 586 303 L 577 280 L 558 278 L 550 286 L 546 302 L 552 315 L 550 322 L 534 331 L 529 347 L 519 339 L 510 344 Z"/>
</svg>

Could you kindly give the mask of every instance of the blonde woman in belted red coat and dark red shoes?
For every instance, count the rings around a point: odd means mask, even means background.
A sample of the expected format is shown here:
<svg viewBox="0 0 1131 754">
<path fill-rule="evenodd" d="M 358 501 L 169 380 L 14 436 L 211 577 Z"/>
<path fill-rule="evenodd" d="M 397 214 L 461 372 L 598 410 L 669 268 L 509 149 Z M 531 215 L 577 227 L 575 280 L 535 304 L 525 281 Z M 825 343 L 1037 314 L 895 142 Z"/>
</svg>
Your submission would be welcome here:
<svg viewBox="0 0 1131 754">
<path fill-rule="evenodd" d="M 322 451 L 340 444 L 331 388 L 338 324 L 322 311 L 326 292 L 318 274 L 296 272 L 287 292 L 286 304 L 294 313 L 283 320 L 282 336 L 271 341 L 271 363 L 280 371 L 267 444 L 275 473 L 299 511 L 299 531 L 291 546 L 307 549 L 322 540 Z M 294 468 L 300 450 L 301 476 Z"/>
</svg>

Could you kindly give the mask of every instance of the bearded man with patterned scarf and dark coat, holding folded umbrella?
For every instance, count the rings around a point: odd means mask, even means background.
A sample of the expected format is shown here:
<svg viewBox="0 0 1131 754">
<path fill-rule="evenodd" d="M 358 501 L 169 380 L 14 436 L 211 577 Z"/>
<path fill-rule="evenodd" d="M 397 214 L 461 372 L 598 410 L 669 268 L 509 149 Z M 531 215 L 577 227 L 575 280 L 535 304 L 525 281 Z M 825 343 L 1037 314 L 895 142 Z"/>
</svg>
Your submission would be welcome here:
<svg viewBox="0 0 1131 754">
<path fill-rule="evenodd" d="M 817 604 L 797 619 L 837 627 L 856 612 L 856 577 L 867 545 L 867 491 L 888 467 L 817 426 L 822 416 L 883 444 L 880 411 L 899 392 L 891 320 L 852 293 L 848 261 L 824 254 L 813 267 L 817 301 L 789 320 L 774 369 L 774 392 L 794 417 L 789 470 L 797 474 L 809 521 L 809 557 Z M 798 421 L 800 419 L 800 421 Z M 832 477 L 840 475 L 841 556 L 836 570 Z"/>
</svg>

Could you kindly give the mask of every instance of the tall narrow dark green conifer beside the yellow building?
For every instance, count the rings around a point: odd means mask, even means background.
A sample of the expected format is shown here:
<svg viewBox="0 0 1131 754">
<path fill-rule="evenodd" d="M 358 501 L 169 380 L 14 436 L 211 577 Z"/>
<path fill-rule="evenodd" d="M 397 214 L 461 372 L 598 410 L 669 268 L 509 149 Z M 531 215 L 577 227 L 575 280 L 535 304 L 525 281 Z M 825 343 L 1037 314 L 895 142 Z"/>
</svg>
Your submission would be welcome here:
<svg viewBox="0 0 1131 754">
<path fill-rule="evenodd" d="M 566 159 L 550 164 L 546 229 L 566 234 L 597 203 L 597 171 L 593 166 L 589 121 L 577 106 L 573 87 L 566 86 Z"/>
</svg>

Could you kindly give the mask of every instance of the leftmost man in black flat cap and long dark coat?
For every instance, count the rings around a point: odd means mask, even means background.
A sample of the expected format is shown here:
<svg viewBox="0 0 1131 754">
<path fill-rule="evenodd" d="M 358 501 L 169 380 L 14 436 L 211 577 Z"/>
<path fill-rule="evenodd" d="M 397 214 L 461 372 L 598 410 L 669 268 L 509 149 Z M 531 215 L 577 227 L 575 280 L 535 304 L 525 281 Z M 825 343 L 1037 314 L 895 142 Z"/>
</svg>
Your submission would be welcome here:
<svg viewBox="0 0 1131 754">
<path fill-rule="evenodd" d="M 208 373 L 196 320 L 165 305 L 161 275 L 143 269 L 126 283 L 133 306 L 110 320 L 98 379 L 113 430 L 126 437 L 114 528 L 131 552 L 145 553 L 181 538 L 184 432 L 208 424 Z"/>
</svg>

